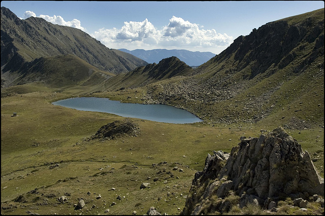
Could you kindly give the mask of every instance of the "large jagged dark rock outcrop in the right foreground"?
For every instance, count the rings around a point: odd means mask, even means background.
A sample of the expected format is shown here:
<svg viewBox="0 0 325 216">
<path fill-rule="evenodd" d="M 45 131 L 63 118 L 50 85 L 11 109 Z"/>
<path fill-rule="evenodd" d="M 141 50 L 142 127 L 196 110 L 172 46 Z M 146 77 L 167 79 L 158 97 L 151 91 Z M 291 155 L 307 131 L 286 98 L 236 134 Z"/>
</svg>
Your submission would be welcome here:
<svg viewBox="0 0 325 216">
<path fill-rule="evenodd" d="M 203 213 L 203 206 L 213 196 L 240 196 L 240 207 L 248 203 L 268 207 L 271 201 L 286 197 L 323 196 L 324 179 L 315 170 L 309 153 L 278 127 L 259 138 L 241 137 L 230 155 L 221 151 L 208 155 L 204 170 L 194 176 L 189 194 L 182 214 Z M 224 205 L 222 200 L 216 208 L 229 210 L 230 203 Z"/>
</svg>

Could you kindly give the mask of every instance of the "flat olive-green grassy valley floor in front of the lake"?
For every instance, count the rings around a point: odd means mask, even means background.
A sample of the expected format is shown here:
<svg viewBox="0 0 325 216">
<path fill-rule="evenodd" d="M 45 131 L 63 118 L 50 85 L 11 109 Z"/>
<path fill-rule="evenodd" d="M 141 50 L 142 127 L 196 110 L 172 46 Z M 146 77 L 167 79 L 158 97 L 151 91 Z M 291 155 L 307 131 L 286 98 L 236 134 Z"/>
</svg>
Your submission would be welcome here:
<svg viewBox="0 0 325 216">
<path fill-rule="evenodd" d="M 145 214 L 151 206 L 179 214 L 208 153 L 230 152 L 241 136 L 278 126 L 132 119 L 139 135 L 88 141 L 103 125 L 125 118 L 51 104 L 68 97 L 48 90 L 2 97 L 2 214 Z M 288 133 L 323 177 L 323 125 Z M 142 183 L 150 185 L 140 189 Z M 67 200 L 59 201 L 62 196 Z M 75 207 L 79 199 L 82 209 Z"/>
</svg>

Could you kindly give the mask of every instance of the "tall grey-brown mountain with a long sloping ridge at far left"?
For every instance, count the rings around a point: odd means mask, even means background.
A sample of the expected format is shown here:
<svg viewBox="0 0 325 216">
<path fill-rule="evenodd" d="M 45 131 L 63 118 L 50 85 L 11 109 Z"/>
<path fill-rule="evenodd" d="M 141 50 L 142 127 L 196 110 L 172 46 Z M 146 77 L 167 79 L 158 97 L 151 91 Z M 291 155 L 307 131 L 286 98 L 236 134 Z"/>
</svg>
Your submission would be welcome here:
<svg viewBox="0 0 325 216">
<path fill-rule="evenodd" d="M 66 54 L 114 74 L 147 64 L 135 56 L 115 53 L 80 29 L 36 17 L 20 20 L 9 9 L 1 8 L 2 72 L 16 71 L 23 62 L 37 58 Z"/>
</svg>

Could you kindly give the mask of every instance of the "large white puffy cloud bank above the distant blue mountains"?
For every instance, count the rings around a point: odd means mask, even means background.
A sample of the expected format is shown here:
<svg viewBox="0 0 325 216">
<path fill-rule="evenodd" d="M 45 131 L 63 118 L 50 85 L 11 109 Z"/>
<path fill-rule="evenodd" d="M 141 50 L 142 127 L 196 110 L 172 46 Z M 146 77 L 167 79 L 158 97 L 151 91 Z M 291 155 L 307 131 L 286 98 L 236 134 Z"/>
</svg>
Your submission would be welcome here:
<svg viewBox="0 0 325 216">
<path fill-rule="evenodd" d="M 233 42 L 226 33 L 217 33 L 215 29 L 200 29 L 203 26 L 173 16 L 168 25 L 156 29 L 145 19 L 142 22 L 124 22 L 120 28 L 99 29 L 91 36 L 110 48 L 127 49 L 188 49 L 214 50 L 217 53 Z M 212 51 L 211 51 L 212 52 Z"/>
</svg>

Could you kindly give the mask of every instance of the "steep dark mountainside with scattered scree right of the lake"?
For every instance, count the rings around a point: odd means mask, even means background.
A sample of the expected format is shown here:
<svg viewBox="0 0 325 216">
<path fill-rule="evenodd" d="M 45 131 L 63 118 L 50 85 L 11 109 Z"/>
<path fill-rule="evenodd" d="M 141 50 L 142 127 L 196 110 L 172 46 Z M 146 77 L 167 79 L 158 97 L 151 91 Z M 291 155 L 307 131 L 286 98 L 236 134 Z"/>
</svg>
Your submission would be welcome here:
<svg viewBox="0 0 325 216">
<path fill-rule="evenodd" d="M 267 23 L 193 76 L 144 87 L 146 101 L 182 107 L 211 123 L 267 117 L 288 127 L 322 123 L 323 38 L 323 9 Z"/>
</svg>

